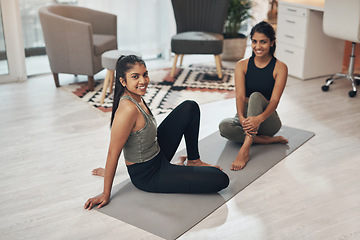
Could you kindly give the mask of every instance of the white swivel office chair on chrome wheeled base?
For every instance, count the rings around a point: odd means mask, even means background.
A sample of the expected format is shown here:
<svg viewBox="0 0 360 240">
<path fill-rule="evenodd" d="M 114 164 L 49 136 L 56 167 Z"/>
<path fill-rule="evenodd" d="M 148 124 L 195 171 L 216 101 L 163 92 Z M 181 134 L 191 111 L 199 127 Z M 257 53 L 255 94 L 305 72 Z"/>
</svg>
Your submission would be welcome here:
<svg viewBox="0 0 360 240">
<path fill-rule="evenodd" d="M 354 76 L 355 45 L 360 43 L 360 0 L 326 0 L 323 18 L 323 30 L 326 35 L 352 42 L 350 63 L 347 74 L 335 73 L 326 79 L 322 86 L 324 92 L 336 79 L 347 78 L 352 90 L 350 97 L 356 96 L 356 84 L 360 83 L 360 77 Z M 331 51 L 331 49 L 329 49 Z"/>
</svg>

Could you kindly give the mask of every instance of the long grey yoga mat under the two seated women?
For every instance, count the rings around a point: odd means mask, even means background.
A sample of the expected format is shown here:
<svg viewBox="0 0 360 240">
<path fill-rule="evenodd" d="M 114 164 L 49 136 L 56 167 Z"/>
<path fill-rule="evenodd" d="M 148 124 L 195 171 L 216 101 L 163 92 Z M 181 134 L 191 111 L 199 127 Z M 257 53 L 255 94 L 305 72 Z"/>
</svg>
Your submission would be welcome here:
<svg viewBox="0 0 360 240">
<path fill-rule="evenodd" d="M 143 192 L 126 180 L 112 190 L 110 203 L 99 211 L 165 239 L 176 239 L 270 168 L 296 150 L 313 132 L 283 126 L 278 133 L 288 144 L 254 144 L 250 161 L 241 171 L 231 171 L 241 144 L 227 141 L 219 132 L 200 140 L 201 159 L 217 164 L 229 175 L 229 186 L 214 194 L 160 194 Z M 186 151 L 178 152 L 186 155 Z"/>
</svg>

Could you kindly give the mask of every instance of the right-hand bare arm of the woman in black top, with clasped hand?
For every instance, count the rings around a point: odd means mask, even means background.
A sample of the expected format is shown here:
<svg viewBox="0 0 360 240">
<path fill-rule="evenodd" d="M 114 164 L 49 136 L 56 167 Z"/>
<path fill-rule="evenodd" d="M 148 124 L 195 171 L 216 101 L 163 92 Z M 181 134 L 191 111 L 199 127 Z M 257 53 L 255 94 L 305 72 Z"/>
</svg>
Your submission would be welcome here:
<svg viewBox="0 0 360 240">
<path fill-rule="evenodd" d="M 284 91 L 286 81 L 288 77 L 288 69 L 285 63 L 277 61 L 274 69 L 274 79 L 275 85 L 273 92 L 271 94 L 269 105 L 266 107 L 265 111 L 258 116 L 249 117 L 245 123 L 248 128 L 256 129 L 260 124 L 265 121 L 273 112 L 275 112 L 281 95 Z"/>
</svg>

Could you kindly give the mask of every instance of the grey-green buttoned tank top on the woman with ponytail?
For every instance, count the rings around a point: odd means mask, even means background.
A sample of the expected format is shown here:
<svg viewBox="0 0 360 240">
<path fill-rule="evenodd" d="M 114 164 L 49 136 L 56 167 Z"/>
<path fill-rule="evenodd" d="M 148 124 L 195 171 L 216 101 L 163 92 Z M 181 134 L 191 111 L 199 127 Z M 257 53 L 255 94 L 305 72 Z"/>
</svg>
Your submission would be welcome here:
<svg viewBox="0 0 360 240">
<path fill-rule="evenodd" d="M 149 161 L 160 152 L 160 147 L 157 142 L 156 136 L 156 119 L 153 115 L 145 112 L 144 109 L 140 106 L 140 104 L 135 101 L 135 99 L 133 99 L 131 96 L 123 95 L 120 101 L 123 99 L 128 99 L 132 101 L 145 118 L 145 126 L 139 131 L 131 132 L 128 140 L 125 143 L 125 160 L 132 163 L 142 163 Z M 145 105 L 146 107 L 148 107 L 146 103 Z"/>
</svg>

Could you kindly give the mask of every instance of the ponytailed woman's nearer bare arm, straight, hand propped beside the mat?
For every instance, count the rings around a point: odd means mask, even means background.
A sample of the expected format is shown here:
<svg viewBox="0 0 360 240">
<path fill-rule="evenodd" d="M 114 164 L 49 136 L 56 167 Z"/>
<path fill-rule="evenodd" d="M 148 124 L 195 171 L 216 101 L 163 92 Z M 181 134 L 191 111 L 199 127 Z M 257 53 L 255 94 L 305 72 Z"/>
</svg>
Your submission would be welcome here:
<svg viewBox="0 0 360 240">
<path fill-rule="evenodd" d="M 105 165 L 104 190 L 99 196 L 90 198 L 85 203 L 85 209 L 90 210 L 97 204 L 99 204 L 98 208 L 101 208 L 109 202 L 119 157 L 136 124 L 138 113 L 139 111 L 133 103 L 129 101 L 121 101 L 119 103 L 111 128 L 110 144 Z"/>
</svg>

